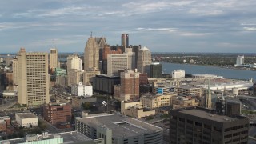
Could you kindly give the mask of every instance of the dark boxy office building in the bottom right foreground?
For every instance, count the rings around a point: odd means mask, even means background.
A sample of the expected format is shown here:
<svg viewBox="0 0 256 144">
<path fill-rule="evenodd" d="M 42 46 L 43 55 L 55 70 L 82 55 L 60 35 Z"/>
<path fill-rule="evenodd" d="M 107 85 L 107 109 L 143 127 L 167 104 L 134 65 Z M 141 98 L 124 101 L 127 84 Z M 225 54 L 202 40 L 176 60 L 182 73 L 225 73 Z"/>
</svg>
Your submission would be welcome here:
<svg viewBox="0 0 256 144">
<path fill-rule="evenodd" d="M 248 142 L 249 118 L 228 117 L 200 107 L 170 110 L 170 143 Z"/>
</svg>

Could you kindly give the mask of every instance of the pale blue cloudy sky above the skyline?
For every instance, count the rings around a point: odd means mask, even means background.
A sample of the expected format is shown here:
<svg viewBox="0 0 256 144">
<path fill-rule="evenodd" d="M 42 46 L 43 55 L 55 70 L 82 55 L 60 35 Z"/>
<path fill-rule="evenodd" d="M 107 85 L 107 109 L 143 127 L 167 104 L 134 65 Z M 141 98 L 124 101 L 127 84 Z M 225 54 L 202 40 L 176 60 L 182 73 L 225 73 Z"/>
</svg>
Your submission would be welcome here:
<svg viewBox="0 0 256 144">
<path fill-rule="evenodd" d="M 92 31 L 152 52 L 256 53 L 255 0 L 0 0 L 0 53 L 83 52 Z"/>
</svg>

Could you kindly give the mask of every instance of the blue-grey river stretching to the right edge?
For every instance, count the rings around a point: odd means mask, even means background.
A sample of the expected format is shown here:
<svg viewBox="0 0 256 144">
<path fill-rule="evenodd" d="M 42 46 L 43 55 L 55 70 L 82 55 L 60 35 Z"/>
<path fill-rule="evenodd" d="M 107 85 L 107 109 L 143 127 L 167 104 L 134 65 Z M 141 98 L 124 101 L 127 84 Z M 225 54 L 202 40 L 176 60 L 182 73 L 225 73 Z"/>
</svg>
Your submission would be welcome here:
<svg viewBox="0 0 256 144">
<path fill-rule="evenodd" d="M 256 80 L 256 71 L 252 70 L 236 70 L 221 68 L 218 66 L 198 66 L 189 64 L 176 64 L 176 63 L 162 63 L 162 71 L 165 74 L 170 74 L 173 70 L 185 70 L 186 74 L 215 74 L 218 76 L 223 76 L 224 78 L 233 79 L 245 79 L 248 80 L 253 78 Z"/>
</svg>

